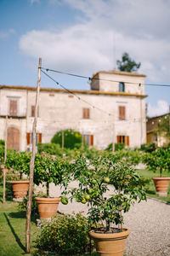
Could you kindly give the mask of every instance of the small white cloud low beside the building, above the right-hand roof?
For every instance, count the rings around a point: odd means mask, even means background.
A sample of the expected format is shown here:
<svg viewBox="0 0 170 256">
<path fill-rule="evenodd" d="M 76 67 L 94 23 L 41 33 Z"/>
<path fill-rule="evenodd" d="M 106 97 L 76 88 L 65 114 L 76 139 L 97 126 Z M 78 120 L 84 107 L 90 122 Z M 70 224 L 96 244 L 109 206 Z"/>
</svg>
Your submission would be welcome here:
<svg viewBox="0 0 170 256">
<path fill-rule="evenodd" d="M 149 117 L 155 117 L 159 116 L 164 113 L 168 113 L 169 111 L 169 106 L 168 103 L 165 101 L 158 101 L 156 102 L 156 105 L 151 105 L 150 103 L 148 104 L 148 116 Z"/>
</svg>

